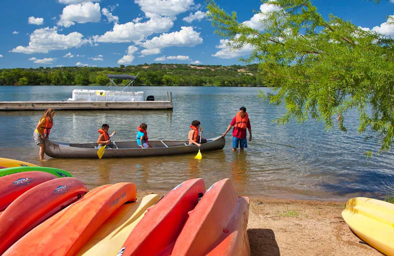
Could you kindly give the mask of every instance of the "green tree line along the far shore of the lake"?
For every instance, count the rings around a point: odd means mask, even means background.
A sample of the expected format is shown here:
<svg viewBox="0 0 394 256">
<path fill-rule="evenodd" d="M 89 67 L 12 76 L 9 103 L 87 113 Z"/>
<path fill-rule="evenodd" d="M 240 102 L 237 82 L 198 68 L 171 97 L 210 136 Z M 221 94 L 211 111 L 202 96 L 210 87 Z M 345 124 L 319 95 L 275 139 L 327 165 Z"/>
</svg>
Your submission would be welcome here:
<svg viewBox="0 0 394 256">
<path fill-rule="evenodd" d="M 106 74 L 131 74 L 144 86 L 265 86 L 257 64 L 140 64 L 120 67 L 39 67 L 0 69 L 0 85 L 108 85 Z M 115 79 L 117 84 L 127 80 Z"/>
</svg>

